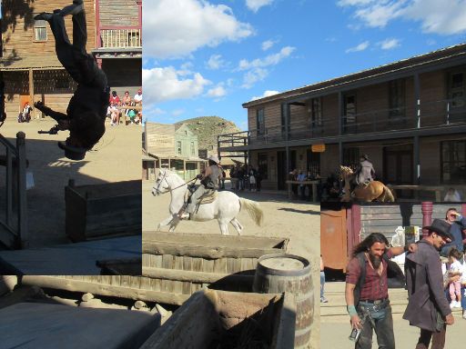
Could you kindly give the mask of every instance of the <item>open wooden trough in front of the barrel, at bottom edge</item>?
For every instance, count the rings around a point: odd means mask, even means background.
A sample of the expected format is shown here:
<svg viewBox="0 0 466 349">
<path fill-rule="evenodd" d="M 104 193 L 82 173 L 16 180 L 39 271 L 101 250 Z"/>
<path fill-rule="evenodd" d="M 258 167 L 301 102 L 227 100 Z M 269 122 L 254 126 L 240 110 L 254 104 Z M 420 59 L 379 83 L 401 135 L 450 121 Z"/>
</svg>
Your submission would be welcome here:
<svg viewBox="0 0 466 349">
<path fill-rule="evenodd" d="M 193 294 L 140 349 L 293 347 L 291 294 L 203 290 Z"/>
</svg>

